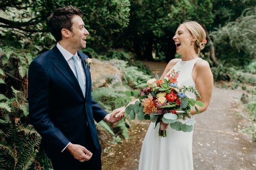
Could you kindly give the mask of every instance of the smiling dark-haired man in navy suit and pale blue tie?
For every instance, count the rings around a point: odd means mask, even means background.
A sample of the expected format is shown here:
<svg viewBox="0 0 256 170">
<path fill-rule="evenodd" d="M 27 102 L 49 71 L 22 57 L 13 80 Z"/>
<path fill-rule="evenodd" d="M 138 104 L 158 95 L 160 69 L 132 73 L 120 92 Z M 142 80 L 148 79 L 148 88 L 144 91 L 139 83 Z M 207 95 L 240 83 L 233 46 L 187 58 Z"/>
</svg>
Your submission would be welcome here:
<svg viewBox="0 0 256 170">
<path fill-rule="evenodd" d="M 91 96 L 90 63 L 81 51 L 89 32 L 82 11 L 58 8 L 49 29 L 58 42 L 29 65 L 29 117 L 42 136 L 54 170 L 100 170 L 101 147 L 96 122 L 117 122 Z"/>
</svg>

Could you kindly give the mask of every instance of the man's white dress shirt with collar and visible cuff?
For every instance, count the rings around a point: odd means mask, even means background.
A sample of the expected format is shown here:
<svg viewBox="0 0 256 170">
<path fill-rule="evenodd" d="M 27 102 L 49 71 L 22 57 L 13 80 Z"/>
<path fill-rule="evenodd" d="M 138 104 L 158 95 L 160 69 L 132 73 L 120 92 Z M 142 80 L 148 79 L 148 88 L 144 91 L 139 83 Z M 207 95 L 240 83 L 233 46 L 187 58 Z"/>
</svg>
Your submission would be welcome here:
<svg viewBox="0 0 256 170">
<path fill-rule="evenodd" d="M 57 48 L 59 51 L 61 51 L 61 54 L 64 56 L 64 58 L 66 59 L 68 65 L 70 66 L 71 70 L 73 71 L 73 74 L 75 75 L 75 77 L 77 77 L 76 75 L 76 68 L 75 68 L 75 64 L 73 62 L 73 54 L 71 54 L 69 51 L 67 51 L 65 48 L 63 48 L 58 42 L 57 42 Z M 86 89 L 86 79 L 85 79 L 85 73 L 84 73 L 84 68 L 83 68 L 83 65 L 82 65 L 82 59 L 81 57 L 78 56 L 77 52 L 76 54 L 74 54 L 78 57 L 78 65 L 79 65 L 79 69 L 80 69 L 80 72 L 82 74 L 82 79 L 83 79 L 83 82 L 84 82 L 84 89 Z M 67 146 L 70 144 L 70 142 L 67 144 Z M 61 152 L 63 152 L 66 148 L 64 147 L 63 150 L 61 150 Z"/>
</svg>

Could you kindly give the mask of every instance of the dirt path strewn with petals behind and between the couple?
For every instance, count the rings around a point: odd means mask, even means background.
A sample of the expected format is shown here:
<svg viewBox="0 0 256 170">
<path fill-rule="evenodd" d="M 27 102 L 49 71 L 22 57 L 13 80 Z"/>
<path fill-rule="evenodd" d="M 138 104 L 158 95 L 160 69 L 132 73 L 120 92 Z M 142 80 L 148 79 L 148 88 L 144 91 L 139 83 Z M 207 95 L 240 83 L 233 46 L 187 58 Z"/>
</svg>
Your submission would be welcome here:
<svg viewBox="0 0 256 170">
<path fill-rule="evenodd" d="M 144 62 L 160 76 L 166 63 Z M 196 115 L 193 134 L 195 170 L 256 170 L 256 142 L 238 133 L 248 122 L 236 116 L 242 92 L 214 88 L 206 112 Z M 133 121 L 130 139 L 102 154 L 102 170 L 137 170 L 149 122 Z"/>
</svg>

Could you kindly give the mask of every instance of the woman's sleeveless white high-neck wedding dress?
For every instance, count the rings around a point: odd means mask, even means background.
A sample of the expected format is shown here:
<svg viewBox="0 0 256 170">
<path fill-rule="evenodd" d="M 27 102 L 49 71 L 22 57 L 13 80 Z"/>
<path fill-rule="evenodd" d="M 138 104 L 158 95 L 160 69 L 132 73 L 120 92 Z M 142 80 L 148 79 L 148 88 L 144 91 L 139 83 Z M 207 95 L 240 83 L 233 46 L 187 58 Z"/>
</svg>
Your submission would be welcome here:
<svg viewBox="0 0 256 170">
<path fill-rule="evenodd" d="M 179 61 L 172 69 L 180 71 L 177 78 L 178 86 L 194 86 L 192 70 L 195 62 L 201 58 L 189 61 Z M 169 71 L 170 73 L 170 71 Z M 167 73 L 167 74 L 169 74 Z M 166 74 L 166 75 L 167 75 Z M 166 77 L 165 77 L 166 78 Z M 187 92 L 189 98 L 196 99 L 195 94 Z M 194 119 L 192 116 L 191 119 Z M 185 123 L 182 119 L 180 122 Z M 159 123 L 150 123 L 140 152 L 139 170 L 193 170 L 192 136 L 191 132 L 182 132 L 167 128 L 167 137 L 158 136 Z"/>
</svg>

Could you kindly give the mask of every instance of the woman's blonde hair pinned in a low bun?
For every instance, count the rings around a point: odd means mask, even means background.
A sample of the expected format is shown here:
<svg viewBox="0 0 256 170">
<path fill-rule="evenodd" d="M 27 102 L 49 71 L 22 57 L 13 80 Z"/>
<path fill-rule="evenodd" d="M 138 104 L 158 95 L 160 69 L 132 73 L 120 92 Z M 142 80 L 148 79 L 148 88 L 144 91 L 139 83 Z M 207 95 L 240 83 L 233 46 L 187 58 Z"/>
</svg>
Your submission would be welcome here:
<svg viewBox="0 0 256 170">
<path fill-rule="evenodd" d="M 201 50 L 204 49 L 204 39 L 206 39 L 206 33 L 204 28 L 197 22 L 197 21 L 185 21 L 184 23 L 180 24 L 180 26 L 185 26 L 190 34 L 195 37 L 195 52 L 199 54 Z"/>
</svg>

